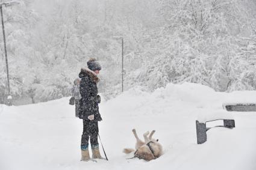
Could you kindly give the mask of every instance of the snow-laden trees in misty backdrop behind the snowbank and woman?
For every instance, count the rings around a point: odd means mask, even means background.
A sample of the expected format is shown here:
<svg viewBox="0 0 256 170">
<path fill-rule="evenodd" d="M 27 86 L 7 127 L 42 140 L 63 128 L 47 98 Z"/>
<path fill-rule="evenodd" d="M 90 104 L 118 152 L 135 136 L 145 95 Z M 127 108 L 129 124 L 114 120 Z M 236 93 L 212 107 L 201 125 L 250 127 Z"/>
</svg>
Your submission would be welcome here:
<svg viewBox="0 0 256 170">
<path fill-rule="evenodd" d="M 4 1 L 2 1 L 4 2 Z M 255 90 L 255 0 L 24 0 L 3 7 L 14 105 L 70 96 L 95 57 L 106 99 L 140 86 L 201 83 L 216 91 Z M 0 34 L 0 103 L 8 96 Z"/>
</svg>

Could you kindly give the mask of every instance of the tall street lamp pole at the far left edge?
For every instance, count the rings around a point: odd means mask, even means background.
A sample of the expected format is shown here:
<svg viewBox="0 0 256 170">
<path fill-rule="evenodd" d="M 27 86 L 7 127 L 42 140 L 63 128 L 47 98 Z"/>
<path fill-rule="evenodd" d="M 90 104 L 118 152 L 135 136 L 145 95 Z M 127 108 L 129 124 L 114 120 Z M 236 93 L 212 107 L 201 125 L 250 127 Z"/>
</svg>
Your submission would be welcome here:
<svg viewBox="0 0 256 170">
<path fill-rule="evenodd" d="M 5 52 L 7 85 L 8 85 L 8 97 L 7 97 L 7 102 L 8 102 L 7 104 L 8 104 L 8 106 L 11 106 L 12 102 L 11 102 L 9 68 L 8 68 L 8 58 L 7 58 L 7 49 L 6 49 L 6 41 L 5 41 L 4 16 L 2 14 L 2 5 L 4 5 L 5 7 L 9 7 L 9 6 L 14 5 L 14 4 L 19 4 L 19 2 L 2 2 L 2 3 L 0 3 L 0 13 L 1 13 L 1 20 L 2 20 L 2 37 L 4 39 L 4 52 Z"/>
</svg>

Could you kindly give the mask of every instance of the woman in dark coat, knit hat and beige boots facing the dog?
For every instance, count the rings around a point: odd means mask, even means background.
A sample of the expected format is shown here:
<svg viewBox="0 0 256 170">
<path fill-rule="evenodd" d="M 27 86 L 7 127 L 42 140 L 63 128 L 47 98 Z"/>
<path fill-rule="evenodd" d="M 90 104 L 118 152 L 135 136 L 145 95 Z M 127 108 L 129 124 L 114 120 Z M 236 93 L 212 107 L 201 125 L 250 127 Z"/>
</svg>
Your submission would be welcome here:
<svg viewBox="0 0 256 170">
<path fill-rule="evenodd" d="M 83 119 L 83 135 L 81 139 L 81 160 L 89 160 L 89 137 L 90 144 L 92 148 L 92 157 L 96 159 L 101 159 L 101 154 L 99 153 L 99 143 L 98 143 L 98 121 L 101 121 L 101 114 L 99 114 L 98 103 L 101 102 L 101 98 L 98 95 L 97 83 L 99 78 L 99 70 L 101 70 L 101 65 L 96 61 L 95 58 L 91 58 L 87 62 L 88 68 L 81 68 L 79 77 L 80 82 L 80 108 L 79 108 L 79 118 Z"/>
</svg>

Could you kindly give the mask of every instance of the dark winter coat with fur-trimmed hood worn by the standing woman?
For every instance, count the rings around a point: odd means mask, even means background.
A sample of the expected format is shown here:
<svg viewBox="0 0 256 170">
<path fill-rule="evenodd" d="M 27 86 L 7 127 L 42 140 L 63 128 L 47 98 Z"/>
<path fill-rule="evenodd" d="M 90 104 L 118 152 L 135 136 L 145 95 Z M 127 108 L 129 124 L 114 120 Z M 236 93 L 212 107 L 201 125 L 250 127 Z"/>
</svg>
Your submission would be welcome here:
<svg viewBox="0 0 256 170">
<path fill-rule="evenodd" d="M 98 88 L 97 83 L 99 78 L 96 73 L 89 68 L 81 68 L 79 73 L 80 82 L 80 108 L 79 118 L 89 120 L 89 115 L 94 115 L 93 121 L 101 121 L 101 114 L 99 114 L 99 106 L 97 102 Z"/>
</svg>

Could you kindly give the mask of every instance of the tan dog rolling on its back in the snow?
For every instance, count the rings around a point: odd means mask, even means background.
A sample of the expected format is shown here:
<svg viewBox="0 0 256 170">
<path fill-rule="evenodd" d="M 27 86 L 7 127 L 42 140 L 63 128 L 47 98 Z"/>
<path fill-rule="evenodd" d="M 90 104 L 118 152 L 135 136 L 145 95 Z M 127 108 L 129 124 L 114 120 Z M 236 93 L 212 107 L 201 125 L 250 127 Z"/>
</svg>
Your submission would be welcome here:
<svg viewBox="0 0 256 170">
<path fill-rule="evenodd" d="M 137 157 L 139 159 L 144 159 L 146 161 L 157 159 L 163 154 L 163 147 L 158 142 L 158 139 L 152 139 L 152 136 L 154 135 L 155 130 L 152 130 L 152 132 L 149 135 L 149 132 L 146 132 L 143 134 L 143 137 L 145 139 L 145 142 L 139 139 L 136 130 L 133 129 L 133 134 L 136 138 L 136 144 L 135 149 L 132 148 L 125 148 L 123 149 L 123 153 L 131 153 L 135 151 L 134 157 Z M 148 136 L 149 135 L 149 136 Z M 133 158 L 134 158 L 133 157 Z"/>
</svg>

